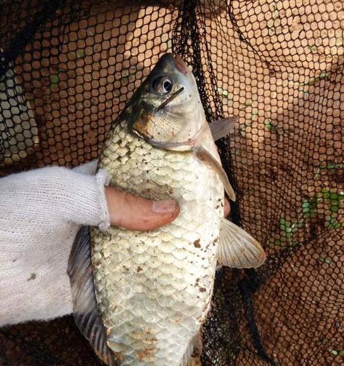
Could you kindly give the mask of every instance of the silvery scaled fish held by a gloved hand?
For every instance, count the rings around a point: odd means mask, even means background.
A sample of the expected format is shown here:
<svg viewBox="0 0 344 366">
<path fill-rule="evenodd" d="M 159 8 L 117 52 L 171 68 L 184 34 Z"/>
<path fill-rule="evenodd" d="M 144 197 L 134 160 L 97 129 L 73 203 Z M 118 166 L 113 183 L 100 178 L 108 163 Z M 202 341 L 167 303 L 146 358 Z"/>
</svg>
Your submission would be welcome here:
<svg viewBox="0 0 344 366">
<path fill-rule="evenodd" d="M 155 230 L 83 227 L 76 237 L 68 263 L 74 319 L 107 365 L 192 364 L 217 266 L 257 268 L 266 259 L 257 240 L 224 218 L 225 191 L 231 200 L 235 192 L 211 125 L 193 73 L 164 54 L 105 139 L 98 169 L 110 186 L 180 205 Z M 217 138 L 226 125 L 214 123 Z"/>
</svg>

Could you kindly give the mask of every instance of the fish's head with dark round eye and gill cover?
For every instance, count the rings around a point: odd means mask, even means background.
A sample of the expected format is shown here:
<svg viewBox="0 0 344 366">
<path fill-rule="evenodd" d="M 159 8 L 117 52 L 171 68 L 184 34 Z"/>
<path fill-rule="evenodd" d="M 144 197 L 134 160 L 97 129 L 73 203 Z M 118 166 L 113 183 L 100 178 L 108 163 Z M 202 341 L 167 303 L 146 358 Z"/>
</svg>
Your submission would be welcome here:
<svg viewBox="0 0 344 366">
<path fill-rule="evenodd" d="M 125 109 L 129 130 L 154 147 L 189 151 L 206 123 L 191 70 L 164 54 Z"/>
</svg>

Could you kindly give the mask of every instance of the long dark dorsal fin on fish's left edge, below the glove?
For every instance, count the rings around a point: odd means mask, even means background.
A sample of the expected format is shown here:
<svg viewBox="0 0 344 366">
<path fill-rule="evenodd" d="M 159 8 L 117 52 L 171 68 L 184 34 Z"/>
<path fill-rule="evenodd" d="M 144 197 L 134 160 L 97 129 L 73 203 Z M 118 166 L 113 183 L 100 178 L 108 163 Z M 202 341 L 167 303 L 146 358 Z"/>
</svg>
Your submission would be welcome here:
<svg viewBox="0 0 344 366">
<path fill-rule="evenodd" d="M 67 272 L 72 289 L 76 325 L 89 340 L 98 358 L 107 365 L 116 365 L 114 354 L 107 346 L 105 326 L 98 314 L 92 276 L 89 230 L 86 226 L 76 235 Z"/>
</svg>

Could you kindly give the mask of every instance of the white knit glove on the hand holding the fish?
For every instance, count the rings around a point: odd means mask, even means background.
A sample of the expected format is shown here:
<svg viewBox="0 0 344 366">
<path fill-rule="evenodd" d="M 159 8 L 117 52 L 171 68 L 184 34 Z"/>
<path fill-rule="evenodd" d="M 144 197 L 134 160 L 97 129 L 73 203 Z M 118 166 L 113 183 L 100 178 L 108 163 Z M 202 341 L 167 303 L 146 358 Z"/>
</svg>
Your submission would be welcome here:
<svg viewBox="0 0 344 366">
<path fill-rule="evenodd" d="M 109 226 L 105 171 L 46 167 L 0 178 L 0 326 L 72 312 L 67 261 L 80 225 Z"/>
</svg>

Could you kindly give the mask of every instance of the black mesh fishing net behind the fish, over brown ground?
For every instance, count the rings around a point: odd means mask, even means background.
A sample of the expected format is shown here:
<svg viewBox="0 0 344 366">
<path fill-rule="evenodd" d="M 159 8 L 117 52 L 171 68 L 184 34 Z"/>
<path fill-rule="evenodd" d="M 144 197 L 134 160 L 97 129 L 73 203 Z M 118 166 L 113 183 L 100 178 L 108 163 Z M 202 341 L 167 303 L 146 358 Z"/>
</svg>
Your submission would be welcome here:
<svg viewBox="0 0 344 366">
<path fill-rule="evenodd" d="M 191 65 L 257 237 L 223 268 L 203 365 L 343 364 L 343 2 L 0 1 L 0 174 L 98 157 L 164 52 Z M 71 316 L 0 330 L 1 365 L 100 365 Z"/>
</svg>

